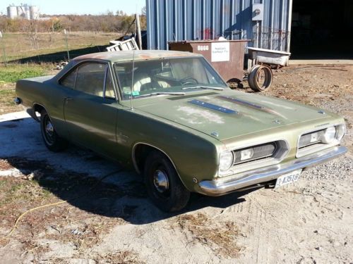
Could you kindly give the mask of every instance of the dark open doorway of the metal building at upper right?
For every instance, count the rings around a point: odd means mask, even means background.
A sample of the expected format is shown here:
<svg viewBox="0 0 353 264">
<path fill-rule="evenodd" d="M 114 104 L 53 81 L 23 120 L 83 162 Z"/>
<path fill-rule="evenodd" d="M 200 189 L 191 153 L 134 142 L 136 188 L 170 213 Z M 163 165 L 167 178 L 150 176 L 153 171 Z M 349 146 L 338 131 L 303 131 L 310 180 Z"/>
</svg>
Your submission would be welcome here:
<svg viewBox="0 0 353 264">
<path fill-rule="evenodd" d="M 293 0 L 291 58 L 353 59 L 353 1 Z"/>
</svg>

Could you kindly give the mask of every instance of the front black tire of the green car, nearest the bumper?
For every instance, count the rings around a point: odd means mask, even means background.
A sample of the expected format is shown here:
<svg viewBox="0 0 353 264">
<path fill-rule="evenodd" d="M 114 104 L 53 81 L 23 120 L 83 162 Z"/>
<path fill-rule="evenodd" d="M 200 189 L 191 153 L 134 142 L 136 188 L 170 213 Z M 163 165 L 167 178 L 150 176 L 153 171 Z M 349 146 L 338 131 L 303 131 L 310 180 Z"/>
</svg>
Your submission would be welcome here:
<svg viewBox="0 0 353 264">
<path fill-rule="evenodd" d="M 157 176 L 165 177 L 167 183 L 163 186 Z M 190 191 L 184 187 L 169 158 L 160 151 L 152 151 L 146 158 L 144 180 L 150 199 L 164 212 L 181 210 L 189 202 Z"/>
</svg>

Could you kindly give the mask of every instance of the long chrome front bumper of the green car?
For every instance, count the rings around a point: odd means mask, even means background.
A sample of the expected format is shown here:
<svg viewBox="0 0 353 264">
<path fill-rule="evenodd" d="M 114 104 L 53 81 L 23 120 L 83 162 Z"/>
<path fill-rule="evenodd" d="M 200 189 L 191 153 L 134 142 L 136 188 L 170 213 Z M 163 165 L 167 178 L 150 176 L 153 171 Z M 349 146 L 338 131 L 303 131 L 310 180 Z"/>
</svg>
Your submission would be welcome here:
<svg viewBox="0 0 353 264">
<path fill-rule="evenodd" d="M 272 165 L 261 169 L 251 170 L 237 175 L 237 179 L 231 177 L 218 178 L 217 180 L 205 180 L 199 182 L 200 192 L 209 196 L 220 196 L 227 194 L 237 189 L 244 189 L 246 187 L 256 186 L 262 182 L 270 182 L 271 180 L 277 179 L 280 175 L 299 170 L 302 168 L 308 168 L 316 166 L 320 163 L 330 161 L 338 156 L 341 156 L 347 152 L 345 146 L 335 146 L 319 153 L 314 153 L 309 156 L 302 158 L 296 158 L 294 161 L 290 161 L 283 164 Z"/>
</svg>

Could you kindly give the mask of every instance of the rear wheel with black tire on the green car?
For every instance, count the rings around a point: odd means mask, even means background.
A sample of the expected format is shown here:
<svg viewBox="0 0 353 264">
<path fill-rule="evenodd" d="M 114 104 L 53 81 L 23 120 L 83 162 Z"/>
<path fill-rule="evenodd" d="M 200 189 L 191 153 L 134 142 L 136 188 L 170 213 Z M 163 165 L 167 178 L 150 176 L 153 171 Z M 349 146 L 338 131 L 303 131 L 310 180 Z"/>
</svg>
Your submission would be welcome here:
<svg viewBox="0 0 353 264">
<path fill-rule="evenodd" d="M 52 120 L 44 109 L 40 112 L 40 132 L 45 146 L 50 151 L 58 152 L 66 148 L 67 142 L 56 133 Z"/>
</svg>

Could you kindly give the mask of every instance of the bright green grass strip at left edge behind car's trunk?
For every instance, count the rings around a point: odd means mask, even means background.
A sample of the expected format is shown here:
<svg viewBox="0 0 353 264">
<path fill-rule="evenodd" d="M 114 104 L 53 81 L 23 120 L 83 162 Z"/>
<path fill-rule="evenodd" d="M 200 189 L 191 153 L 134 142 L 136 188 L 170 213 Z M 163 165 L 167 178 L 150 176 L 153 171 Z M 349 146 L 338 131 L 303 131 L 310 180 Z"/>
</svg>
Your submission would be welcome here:
<svg viewBox="0 0 353 264">
<path fill-rule="evenodd" d="M 8 65 L 0 68 L 0 82 L 17 82 L 20 79 L 41 76 L 45 70 L 40 65 Z"/>
</svg>

